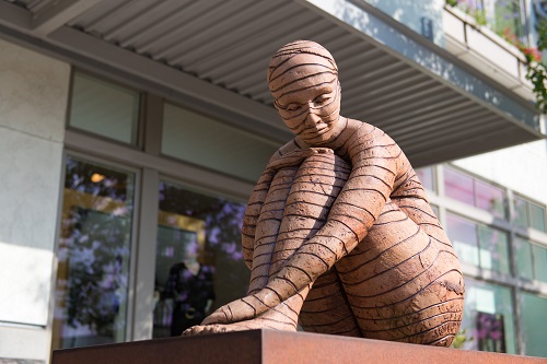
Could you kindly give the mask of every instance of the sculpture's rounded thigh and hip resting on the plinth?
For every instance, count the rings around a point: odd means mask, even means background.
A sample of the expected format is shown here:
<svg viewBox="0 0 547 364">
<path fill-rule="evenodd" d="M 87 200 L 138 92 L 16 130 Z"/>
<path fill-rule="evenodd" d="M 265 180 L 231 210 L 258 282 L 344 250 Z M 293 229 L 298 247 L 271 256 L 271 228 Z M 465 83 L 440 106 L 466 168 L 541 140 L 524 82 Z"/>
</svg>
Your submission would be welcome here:
<svg viewBox="0 0 547 364">
<path fill-rule="evenodd" d="M 336 263 L 366 338 L 450 345 L 458 331 L 464 283 L 457 258 L 420 225 L 388 202 L 366 237 Z"/>
</svg>

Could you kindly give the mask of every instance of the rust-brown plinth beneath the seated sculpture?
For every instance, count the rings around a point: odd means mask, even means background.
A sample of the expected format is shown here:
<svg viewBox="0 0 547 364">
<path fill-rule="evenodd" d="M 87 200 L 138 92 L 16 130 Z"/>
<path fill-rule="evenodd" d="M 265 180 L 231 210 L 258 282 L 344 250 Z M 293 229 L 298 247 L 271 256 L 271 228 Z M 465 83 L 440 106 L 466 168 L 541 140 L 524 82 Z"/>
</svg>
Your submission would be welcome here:
<svg viewBox="0 0 547 364">
<path fill-rule="evenodd" d="M 306 332 L 251 330 L 68 349 L 53 364 L 547 364 L 547 359 Z"/>
</svg>

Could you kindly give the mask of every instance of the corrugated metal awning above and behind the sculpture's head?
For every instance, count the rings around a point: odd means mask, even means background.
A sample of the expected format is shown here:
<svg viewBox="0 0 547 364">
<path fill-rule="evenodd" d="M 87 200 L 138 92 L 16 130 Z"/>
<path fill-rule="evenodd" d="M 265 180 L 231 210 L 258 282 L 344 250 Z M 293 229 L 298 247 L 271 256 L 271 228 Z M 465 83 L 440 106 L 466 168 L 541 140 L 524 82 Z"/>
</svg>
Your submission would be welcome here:
<svg viewBox="0 0 547 364">
<path fill-rule="evenodd" d="M 281 45 L 312 39 L 338 62 L 342 115 L 382 128 L 416 166 L 545 137 L 529 101 L 359 2 L 336 3 L 361 9 L 399 43 L 360 31 L 354 16 L 291 0 L 0 0 L 0 36 L 166 97 L 212 104 L 280 141 L 290 136 L 271 107 L 266 68 Z M 408 57 L 400 49 L 408 45 L 449 66 Z M 459 73 L 449 74 L 451 67 Z"/>
</svg>

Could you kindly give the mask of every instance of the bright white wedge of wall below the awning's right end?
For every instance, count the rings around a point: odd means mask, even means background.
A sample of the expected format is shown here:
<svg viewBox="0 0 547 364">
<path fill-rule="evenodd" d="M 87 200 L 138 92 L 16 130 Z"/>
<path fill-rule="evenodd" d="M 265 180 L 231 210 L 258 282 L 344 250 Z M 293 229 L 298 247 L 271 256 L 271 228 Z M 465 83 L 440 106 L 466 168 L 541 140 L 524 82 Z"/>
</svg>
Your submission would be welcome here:
<svg viewBox="0 0 547 364">
<path fill-rule="evenodd" d="M 458 160 L 454 164 L 547 204 L 547 140 Z"/>
</svg>

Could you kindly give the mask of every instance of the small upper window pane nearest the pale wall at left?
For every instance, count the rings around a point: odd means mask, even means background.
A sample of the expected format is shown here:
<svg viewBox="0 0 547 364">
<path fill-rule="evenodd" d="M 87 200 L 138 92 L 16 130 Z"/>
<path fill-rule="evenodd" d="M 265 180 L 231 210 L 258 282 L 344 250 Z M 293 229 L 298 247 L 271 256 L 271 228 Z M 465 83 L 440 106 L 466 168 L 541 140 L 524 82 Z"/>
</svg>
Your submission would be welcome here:
<svg viewBox="0 0 547 364">
<path fill-rule="evenodd" d="M 139 93 L 75 73 L 69 125 L 128 144 L 137 143 Z"/>
</svg>

